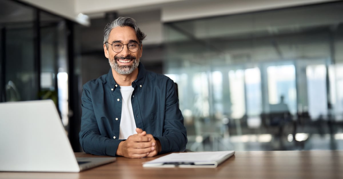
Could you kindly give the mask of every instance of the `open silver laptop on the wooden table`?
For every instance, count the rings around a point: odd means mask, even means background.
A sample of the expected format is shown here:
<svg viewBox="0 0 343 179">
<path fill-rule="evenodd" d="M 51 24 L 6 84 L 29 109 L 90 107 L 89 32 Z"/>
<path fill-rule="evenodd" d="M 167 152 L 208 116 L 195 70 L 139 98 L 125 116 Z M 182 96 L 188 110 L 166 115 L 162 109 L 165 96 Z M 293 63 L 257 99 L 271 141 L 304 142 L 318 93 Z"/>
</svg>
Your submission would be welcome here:
<svg viewBox="0 0 343 179">
<path fill-rule="evenodd" d="M 114 161 L 76 158 L 51 100 L 0 103 L 0 171 L 80 172 Z"/>
</svg>

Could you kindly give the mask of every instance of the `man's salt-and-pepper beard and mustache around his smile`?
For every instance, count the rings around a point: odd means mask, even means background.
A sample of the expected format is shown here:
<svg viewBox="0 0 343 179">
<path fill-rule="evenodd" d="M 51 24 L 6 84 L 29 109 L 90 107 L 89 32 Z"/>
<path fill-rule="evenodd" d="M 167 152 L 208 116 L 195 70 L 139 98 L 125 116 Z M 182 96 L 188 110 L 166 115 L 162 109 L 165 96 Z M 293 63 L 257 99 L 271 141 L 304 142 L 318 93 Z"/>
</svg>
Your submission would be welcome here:
<svg viewBox="0 0 343 179">
<path fill-rule="evenodd" d="M 120 60 L 133 60 L 132 65 L 119 65 L 116 59 Z M 139 65 L 139 59 L 136 59 L 135 56 L 115 56 L 114 59 L 108 58 L 108 63 L 110 64 L 111 68 L 114 69 L 117 73 L 121 75 L 128 75 L 131 74 Z"/>
</svg>

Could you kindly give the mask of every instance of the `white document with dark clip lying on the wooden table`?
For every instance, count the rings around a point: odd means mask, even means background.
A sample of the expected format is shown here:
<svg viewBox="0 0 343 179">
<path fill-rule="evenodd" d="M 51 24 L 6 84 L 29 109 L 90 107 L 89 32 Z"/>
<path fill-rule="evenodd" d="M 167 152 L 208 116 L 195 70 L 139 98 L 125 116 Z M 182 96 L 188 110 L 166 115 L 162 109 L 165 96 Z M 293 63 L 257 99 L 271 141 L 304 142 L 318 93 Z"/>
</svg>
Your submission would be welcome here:
<svg viewBox="0 0 343 179">
<path fill-rule="evenodd" d="M 234 154 L 235 151 L 171 153 L 145 162 L 143 167 L 215 168 Z"/>
</svg>

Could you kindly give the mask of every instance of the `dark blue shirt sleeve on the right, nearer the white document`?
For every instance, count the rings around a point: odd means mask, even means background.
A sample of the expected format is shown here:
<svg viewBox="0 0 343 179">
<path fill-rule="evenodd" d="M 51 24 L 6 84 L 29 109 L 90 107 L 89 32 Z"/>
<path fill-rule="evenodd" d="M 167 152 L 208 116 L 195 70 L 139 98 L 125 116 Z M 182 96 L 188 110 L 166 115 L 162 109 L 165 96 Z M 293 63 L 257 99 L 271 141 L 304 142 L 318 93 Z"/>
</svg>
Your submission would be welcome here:
<svg viewBox="0 0 343 179">
<path fill-rule="evenodd" d="M 187 132 L 174 85 L 173 80 L 167 81 L 163 134 L 162 137 L 156 137 L 161 142 L 160 154 L 183 152 L 186 149 Z"/>
</svg>

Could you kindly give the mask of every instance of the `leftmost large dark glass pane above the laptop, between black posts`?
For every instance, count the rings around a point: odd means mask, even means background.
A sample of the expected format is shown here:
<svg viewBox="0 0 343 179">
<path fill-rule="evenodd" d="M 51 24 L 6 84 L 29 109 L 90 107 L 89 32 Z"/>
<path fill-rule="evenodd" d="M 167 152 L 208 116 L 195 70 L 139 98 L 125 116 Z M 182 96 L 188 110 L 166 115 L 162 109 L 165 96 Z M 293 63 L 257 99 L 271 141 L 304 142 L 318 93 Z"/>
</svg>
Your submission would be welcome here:
<svg viewBox="0 0 343 179">
<path fill-rule="evenodd" d="M 35 67 L 34 11 L 14 1 L 0 1 L 0 27 L 5 40 L 5 101 L 38 99 Z M 3 88 L 3 87 L 2 87 Z"/>
</svg>

